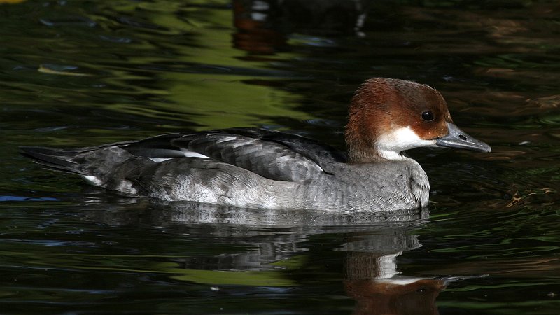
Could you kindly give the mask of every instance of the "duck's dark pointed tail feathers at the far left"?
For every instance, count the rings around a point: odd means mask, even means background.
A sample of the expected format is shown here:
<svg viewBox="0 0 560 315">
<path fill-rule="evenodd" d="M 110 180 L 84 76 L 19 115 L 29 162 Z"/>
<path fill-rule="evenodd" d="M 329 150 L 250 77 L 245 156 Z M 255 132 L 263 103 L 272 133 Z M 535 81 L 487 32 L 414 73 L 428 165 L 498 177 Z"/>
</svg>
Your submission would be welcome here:
<svg viewBox="0 0 560 315">
<path fill-rule="evenodd" d="M 80 171 L 80 169 L 78 169 L 78 163 L 71 161 L 78 151 L 60 150 L 44 146 L 20 146 L 20 149 L 20 153 L 23 156 L 31 158 L 34 162 L 43 165 L 48 169 L 85 175 Z"/>
</svg>

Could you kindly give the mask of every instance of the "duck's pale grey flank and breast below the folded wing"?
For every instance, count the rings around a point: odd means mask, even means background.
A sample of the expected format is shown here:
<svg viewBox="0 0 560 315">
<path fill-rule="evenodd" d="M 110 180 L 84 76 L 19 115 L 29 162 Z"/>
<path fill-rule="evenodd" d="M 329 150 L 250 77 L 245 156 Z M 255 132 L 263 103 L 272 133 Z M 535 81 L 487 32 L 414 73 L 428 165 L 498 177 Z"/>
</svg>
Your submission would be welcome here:
<svg viewBox="0 0 560 315">
<path fill-rule="evenodd" d="M 129 176 L 133 193 L 236 207 L 393 211 L 428 204 L 428 178 L 413 160 L 330 168 L 331 174 L 318 171 L 299 181 L 277 181 L 215 160 L 181 158 L 150 163 Z"/>
</svg>

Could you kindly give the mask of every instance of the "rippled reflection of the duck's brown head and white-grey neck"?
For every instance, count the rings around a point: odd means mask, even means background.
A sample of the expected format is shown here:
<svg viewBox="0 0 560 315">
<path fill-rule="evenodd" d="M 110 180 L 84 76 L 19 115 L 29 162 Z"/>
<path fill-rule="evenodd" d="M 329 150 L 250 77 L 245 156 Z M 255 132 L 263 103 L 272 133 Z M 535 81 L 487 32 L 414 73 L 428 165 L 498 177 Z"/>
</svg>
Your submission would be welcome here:
<svg viewBox="0 0 560 315">
<path fill-rule="evenodd" d="M 348 251 L 344 289 L 357 301 L 354 314 L 437 314 L 435 297 L 446 282 L 400 275 L 398 255 L 421 246 L 416 235 L 403 232 L 367 235 L 343 244 Z"/>
</svg>

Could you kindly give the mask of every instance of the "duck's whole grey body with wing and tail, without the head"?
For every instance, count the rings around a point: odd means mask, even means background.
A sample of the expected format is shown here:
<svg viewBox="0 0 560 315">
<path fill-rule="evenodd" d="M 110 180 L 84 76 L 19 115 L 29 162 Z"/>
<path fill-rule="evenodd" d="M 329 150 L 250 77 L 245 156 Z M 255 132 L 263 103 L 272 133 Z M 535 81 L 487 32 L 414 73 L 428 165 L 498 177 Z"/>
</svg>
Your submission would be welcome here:
<svg viewBox="0 0 560 315">
<path fill-rule="evenodd" d="M 420 165 L 346 163 L 330 146 L 257 129 L 166 134 L 76 150 L 24 147 L 51 169 L 125 195 L 236 207 L 395 211 L 426 207 Z"/>
</svg>

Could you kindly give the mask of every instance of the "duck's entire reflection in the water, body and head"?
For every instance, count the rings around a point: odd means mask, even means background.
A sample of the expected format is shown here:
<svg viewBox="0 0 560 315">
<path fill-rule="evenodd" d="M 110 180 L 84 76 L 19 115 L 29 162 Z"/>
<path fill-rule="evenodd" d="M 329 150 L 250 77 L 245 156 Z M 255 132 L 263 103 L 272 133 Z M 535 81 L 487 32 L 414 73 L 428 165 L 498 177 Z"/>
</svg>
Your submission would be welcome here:
<svg viewBox="0 0 560 315">
<path fill-rule="evenodd" d="M 337 241 L 332 250 L 345 253 L 341 264 L 344 269 L 342 286 L 346 294 L 356 300 L 354 314 L 437 314 L 437 295 L 448 283 L 461 279 L 407 276 L 399 272 L 398 257 L 421 247 L 418 236 L 411 232 L 428 223 L 428 209 L 398 214 L 332 214 L 144 200 L 132 207 L 89 213 L 96 220 L 109 224 L 172 224 L 176 228 L 188 228 L 190 235 L 198 233 L 200 237 L 220 239 L 221 244 L 229 242 L 258 248 L 218 255 L 211 251 L 214 255 L 189 255 L 180 261 L 174 260 L 190 272 L 278 269 L 272 264 L 314 251 L 305 246 L 305 241 L 311 237 L 335 235 Z M 191 281 L 188 277 L 181 279 Z M 211 280 L 207 283 L 214 284 Z"/>
</svg>

